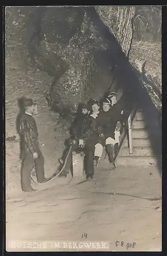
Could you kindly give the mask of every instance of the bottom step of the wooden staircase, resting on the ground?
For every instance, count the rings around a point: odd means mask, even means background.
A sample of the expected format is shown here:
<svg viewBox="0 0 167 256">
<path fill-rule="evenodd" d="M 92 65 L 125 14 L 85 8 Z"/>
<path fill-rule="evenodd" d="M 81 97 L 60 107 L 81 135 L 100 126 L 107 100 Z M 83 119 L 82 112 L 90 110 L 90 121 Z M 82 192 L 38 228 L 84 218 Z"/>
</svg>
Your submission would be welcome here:
<svg viewBox="0 0 167 256">
<path fill-rule="evenodd" d="M 125 156 L 118 157 L 115 161 L 116 166 L 157 166 L 157 160 L 153 156 Z"/>
</svg>

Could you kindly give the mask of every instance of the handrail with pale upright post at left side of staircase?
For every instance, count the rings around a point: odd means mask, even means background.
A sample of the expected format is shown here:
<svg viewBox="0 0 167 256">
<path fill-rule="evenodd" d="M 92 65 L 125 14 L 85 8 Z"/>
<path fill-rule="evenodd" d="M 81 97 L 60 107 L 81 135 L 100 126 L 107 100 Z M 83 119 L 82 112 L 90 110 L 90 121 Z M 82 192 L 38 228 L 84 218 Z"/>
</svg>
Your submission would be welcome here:
<svg viewBox="0 0 167 256">
<path fill-rule="evenodd" d="M 118 145 L 118 151 L 117 151 L 117 154 L 115 155 L 114 157 L 114 160 L 117 158 L 118 156 L 118 153 L 120 151 L 120 148 L 122 146 L 122 143 L 125 139 L 125 136 L 128 134 L 128 143 L 129 143 L 129 155 L 132 155 L 132 136 L 131 136 L 131 126 L 132 126 L 132 121 L 133 121 L 133 118 L 136 114 L 136 111 L 137 111 L 137 106 L 135 105 L 132 112 L 130 113 L 128 119 L 127 119 L 127 122 L 128 122 L 128 125 L 125 125 L 123 127 L 123 132 L 120 136 L 120 142 L 119 142 L 119 145 Z M 129 136 L 130 135 L 130 136 Z M 130 137 L 130 138 L 129 138 Z"/>
</svg>

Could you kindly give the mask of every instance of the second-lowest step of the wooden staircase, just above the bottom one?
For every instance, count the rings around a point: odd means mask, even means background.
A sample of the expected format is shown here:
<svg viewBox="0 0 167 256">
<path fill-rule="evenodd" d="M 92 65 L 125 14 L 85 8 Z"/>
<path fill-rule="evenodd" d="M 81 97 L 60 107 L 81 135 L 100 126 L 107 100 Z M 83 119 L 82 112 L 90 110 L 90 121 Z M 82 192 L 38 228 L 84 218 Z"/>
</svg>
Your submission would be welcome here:
<svg viewBox="0 0 167 256">
<path fill-rule="evenodd" d="M 129 147 L 121 148 L 121 156 L 129 156 Z M 133 146 L 132 156 L 154 156 L 151 146 Z"/>
</svg>

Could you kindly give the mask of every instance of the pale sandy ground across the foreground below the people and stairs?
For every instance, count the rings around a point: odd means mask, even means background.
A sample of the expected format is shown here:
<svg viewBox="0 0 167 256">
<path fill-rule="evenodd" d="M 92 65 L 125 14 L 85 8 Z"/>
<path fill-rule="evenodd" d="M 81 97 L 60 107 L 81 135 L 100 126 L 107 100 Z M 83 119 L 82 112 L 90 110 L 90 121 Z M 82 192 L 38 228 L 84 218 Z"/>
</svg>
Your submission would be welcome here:
<svg viewBox="0 0 167 256">
<path fill-rule="evenodd" d="M 8 199 L 7 250 L 67 250 L 63 242 L 104 241 L 112 251 L 160 251 L 161 200 L 150 200 L 161 195 L 157 170 L 105 170 L 105 161 L 101 160 L 92 181 L 80 183 L 83 178 L 71 180 L 69 175 L 35 193 Z M 32 244 L 27 248 L 28 242 L 36 243 L 35 248 L 30 248 Z M 60 248 L 54 248 L 53 243 L 58 242 Z M 44 248 L 39 243 L 44 243 Z M 130 244 L 134 248 L 129 248 Z"/>
</svg>

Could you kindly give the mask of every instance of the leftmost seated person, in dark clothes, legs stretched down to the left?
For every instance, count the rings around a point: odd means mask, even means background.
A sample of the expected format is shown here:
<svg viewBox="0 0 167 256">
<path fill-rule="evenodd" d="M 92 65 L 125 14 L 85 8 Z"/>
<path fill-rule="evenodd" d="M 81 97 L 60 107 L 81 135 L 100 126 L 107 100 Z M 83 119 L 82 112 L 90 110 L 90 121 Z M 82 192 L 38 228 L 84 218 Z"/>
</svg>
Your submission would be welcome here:
<svg viewBox="0 0 167 256">
<path fill-rule="evenodd" d="M 81 131 L 82 131 L 82 124 L 85 120 L 85 118 L 89 115 L 90 111 L 88 109 L 87 104 L 82 104 L 80 106 L 80 111 L 78 112 L 78 115 L 74 119 L 72 125 L 71 125 L 71 140 L 70 140 L 70 146 L 71 152 L 66 159 L 68 152 L 69 152 L 69 147 L 66 148 L 66 151 L 64 152 L 64 156 L 59 159 L 60 163 L 63 165 L 64 161 L 66 160 L 66 166 L 63 170 L 63 172 L 59 175 L 59 177 L 67 177 L 67 173 L 69 172 L 70 166 L 71 166 L 71 161 L 72 161 L 72 151 L 77 150 L 78 148 L 78 141 L 81 136 Z M 61 165 L 61 167 L 63 167 Z"/>
</svg>

